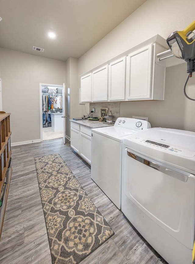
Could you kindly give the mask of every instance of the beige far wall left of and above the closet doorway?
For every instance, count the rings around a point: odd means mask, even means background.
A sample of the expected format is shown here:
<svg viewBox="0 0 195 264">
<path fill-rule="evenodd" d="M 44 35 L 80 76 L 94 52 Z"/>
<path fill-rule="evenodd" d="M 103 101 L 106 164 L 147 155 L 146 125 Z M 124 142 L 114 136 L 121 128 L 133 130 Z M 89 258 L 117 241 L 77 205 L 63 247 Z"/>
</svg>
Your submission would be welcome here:
<svg viewBox="0 0 195 264">
<path fill-rule="evenodd" d="M 12 143 L 40 139 L 39 83 L 65 83 L 66 63 L 0 48 L 0 71 L 3 110 L 12 113 Z"/>
</svg>

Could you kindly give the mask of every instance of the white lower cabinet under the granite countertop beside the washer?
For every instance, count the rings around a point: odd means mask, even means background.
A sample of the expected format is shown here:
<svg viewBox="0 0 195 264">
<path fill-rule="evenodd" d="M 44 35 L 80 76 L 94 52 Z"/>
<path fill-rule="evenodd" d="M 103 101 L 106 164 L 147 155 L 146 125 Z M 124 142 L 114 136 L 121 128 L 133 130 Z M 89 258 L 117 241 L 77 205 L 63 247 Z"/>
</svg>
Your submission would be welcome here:
<svg viewBox="0 0 195 264">
<path fill-rule="evenodd" d="M 91 164 L 91 129 L 71 122 L 70 146 Z"/>
</svg>

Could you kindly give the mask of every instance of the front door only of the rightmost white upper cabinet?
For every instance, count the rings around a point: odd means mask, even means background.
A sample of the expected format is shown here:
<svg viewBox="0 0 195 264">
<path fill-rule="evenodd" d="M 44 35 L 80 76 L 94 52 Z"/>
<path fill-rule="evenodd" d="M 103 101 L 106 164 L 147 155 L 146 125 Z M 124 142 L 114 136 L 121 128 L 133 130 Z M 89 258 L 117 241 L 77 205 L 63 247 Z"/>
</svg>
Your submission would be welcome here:
<svg viewBox="0 0 195 264">
<path fill-rule="evenodd" d="M 152 45 L 129 54 L 126 61 L 126 99 L 151 98 Z"/>
</svg>

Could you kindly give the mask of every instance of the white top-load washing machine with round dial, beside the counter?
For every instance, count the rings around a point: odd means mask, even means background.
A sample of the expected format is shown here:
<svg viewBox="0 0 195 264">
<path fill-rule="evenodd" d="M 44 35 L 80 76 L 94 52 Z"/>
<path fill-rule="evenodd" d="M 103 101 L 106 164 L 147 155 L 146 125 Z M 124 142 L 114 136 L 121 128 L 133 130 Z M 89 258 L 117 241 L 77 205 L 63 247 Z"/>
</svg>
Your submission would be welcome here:
<svg viewBox="0 0 195 264">
<path fill-rule="evenodd" d="M 151 128 L 149 122 L 117 118 L 114 126 L 91 129 L 91 179 L 121 208 L 122 141 Z"/>
</svg>

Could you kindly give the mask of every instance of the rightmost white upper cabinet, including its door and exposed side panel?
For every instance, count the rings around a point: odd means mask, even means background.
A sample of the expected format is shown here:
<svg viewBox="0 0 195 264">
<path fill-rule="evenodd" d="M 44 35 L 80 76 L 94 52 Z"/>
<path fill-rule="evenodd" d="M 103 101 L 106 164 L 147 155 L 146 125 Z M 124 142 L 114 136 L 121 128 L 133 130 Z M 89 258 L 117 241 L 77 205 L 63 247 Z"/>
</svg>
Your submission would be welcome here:
<svg viewBox="0 0 195 264">
<path fill-rule="evenodd" d="M 164 100 L 165 67 L 155 63 L 157 43 L 126 59 L 126 100 Z"/>
</svg>

